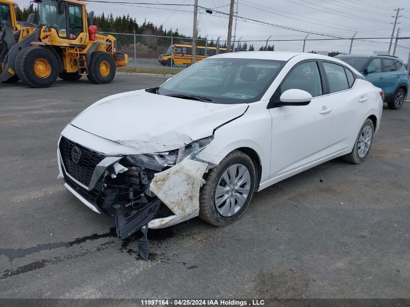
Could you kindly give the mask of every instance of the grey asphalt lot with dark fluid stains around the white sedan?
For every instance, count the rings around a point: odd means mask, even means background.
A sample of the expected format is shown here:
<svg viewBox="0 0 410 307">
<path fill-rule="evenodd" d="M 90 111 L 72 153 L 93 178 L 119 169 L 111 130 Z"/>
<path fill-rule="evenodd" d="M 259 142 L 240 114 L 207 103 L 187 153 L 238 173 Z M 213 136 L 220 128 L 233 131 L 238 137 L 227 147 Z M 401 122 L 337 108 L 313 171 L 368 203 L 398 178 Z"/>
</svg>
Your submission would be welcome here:
<svg viewBox="0 0 410 307">
<path fill-rule="evenodd" d="M 149 230 L 148 261 L 136 235 L 117 239 L 113 219 L 57 179 L 59 134 L 98 99 L 165 80 L 0 84 L 0 298 L 409 298 L 409 101 L 385 106 L 362 164 L 335 159 L 279 182 L 226 227 Z"/>
</svg>

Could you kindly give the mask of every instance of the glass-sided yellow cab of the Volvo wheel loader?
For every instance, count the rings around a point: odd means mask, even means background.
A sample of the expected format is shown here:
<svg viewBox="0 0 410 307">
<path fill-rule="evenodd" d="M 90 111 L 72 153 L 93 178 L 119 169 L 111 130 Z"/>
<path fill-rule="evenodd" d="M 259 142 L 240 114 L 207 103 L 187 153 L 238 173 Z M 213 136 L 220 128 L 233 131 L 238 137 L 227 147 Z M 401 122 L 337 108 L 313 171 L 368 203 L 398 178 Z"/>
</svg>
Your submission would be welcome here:
<svg viewBox="0 0 410 307">
<path fill-rule="evenodd" d="M 1 1 L 1 0 L 0 0 Z M 85 2 L 77 0 L 37 0 L 37 23 L 54 29 L 58 40 L 86 44 L 87 22 Z"/>
</svg>

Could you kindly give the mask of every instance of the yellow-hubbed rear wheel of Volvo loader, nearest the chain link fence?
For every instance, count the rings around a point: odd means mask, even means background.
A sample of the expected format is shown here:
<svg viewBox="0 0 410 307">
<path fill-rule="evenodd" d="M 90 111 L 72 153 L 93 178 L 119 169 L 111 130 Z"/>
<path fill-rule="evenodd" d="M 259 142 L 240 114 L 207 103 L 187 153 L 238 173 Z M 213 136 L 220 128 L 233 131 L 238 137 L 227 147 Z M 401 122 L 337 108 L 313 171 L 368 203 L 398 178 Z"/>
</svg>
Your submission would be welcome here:
<svg viewBox="0 0 410 307">
<path fill-rule="evenodd" d="M 94 51 L 88 65 L 87 78 L 94 84 L 106 84 L 114 80 L 115 61 L 104 51 Z"/>
</svg>

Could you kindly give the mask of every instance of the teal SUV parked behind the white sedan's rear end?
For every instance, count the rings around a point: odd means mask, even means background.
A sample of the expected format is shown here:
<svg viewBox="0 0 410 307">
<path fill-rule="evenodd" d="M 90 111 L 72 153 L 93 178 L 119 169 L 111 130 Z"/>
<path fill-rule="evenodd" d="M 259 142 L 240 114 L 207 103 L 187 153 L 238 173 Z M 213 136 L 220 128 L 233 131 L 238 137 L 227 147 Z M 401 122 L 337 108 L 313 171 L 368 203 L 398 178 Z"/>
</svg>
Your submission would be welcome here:
<svg viewBox="0 0 410 307">
<path fill-rule="evenodd" d="M 409 73 L 403 61 L 385 54 L 339 54 L 335 58 L 356 68 L 367 81 L 380 87 L 389 109 L 398 110 L 409 90 Z"/>
</svg>

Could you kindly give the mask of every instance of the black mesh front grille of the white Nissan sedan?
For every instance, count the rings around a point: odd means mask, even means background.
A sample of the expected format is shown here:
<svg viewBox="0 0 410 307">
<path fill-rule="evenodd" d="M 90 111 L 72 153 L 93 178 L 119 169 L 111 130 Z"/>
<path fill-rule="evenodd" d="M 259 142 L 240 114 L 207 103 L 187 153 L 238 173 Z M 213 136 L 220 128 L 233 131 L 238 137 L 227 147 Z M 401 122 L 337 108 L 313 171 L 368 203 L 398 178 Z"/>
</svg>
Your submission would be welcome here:
<svg viewBox="0 0 410 307">
<path fill-rule="evenodd" d="M 81 158 L 78 164 L 74 163 L 71 158 L 71 150 L 74 146 L 77 146 L 81 150 Z M 66 172 L 71 175 L 71 177 L 88 187 L 90 185 L 94 169 L 97 164 L 105 158 L 105 156 L 85 148 L 82 145 L 71 142 L 65 137 L 61 138 L 59 148 Z"/>
</svg>

